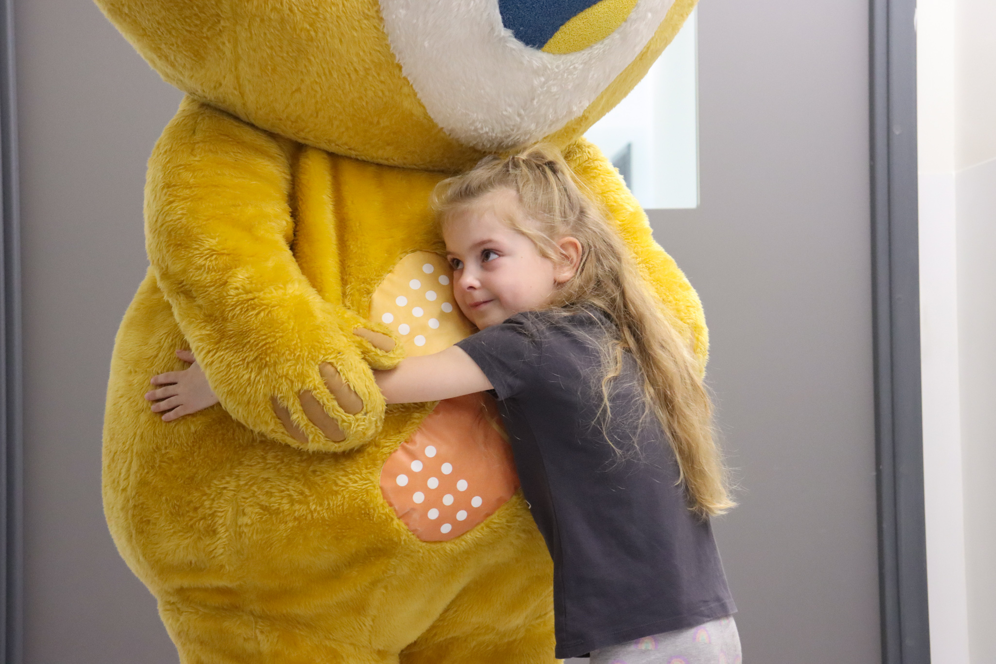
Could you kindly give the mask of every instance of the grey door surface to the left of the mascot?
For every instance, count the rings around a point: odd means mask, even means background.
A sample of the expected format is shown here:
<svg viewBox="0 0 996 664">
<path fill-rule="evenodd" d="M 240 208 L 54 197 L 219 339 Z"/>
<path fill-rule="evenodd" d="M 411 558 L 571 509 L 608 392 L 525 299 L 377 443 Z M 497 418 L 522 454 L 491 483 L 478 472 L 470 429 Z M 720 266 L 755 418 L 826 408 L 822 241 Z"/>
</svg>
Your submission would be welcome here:
<svg viewBox="0 0 996 664">
<path fill-rule="evenodd" d="M 26 662 L 175 662 L 101 506 L 108 365 L 145 270 L 145 159 L 180 95 L 87 0 L 15 6 L 25 317 Z"/>
</svg>

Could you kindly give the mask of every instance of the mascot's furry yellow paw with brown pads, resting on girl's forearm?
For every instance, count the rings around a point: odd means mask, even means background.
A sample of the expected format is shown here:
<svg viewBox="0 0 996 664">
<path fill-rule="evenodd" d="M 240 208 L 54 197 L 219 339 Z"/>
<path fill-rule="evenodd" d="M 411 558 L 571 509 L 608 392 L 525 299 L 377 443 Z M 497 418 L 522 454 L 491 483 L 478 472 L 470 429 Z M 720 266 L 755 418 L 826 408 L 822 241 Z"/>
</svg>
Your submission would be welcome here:
<svg viewBox="0 0 996 664">
<path fill-rule="evenodd" d="M 339 330 L 329 332 L 329 341 L 339 346 L 338 357 L 318 362 L 318 375 L 306 381 L 320 386 L 270 397 L 286 435 L 307 449 L 345 450 L 369 442 L 379 431 L 384 410 L 372 369 L 392 368 L 404 352 L 383 326 L 345 309 L 337 314 Z M 316 434 L 335 445 L 330 448 Z"/>
</svg>

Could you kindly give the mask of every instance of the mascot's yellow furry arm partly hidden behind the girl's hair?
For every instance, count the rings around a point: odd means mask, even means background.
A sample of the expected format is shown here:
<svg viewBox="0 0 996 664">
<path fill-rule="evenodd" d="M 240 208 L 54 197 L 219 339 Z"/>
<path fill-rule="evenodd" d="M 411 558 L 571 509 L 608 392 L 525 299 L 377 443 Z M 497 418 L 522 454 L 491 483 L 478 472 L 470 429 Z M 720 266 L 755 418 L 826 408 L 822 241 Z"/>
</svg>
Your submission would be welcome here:
<svg viewBox="0 0 996 664">
<path fill-rule="evenodd" d="M 564 156 L 619 224 L 622 238 L 632 249 L 643 275 L 657 296 L 694 338 L 695 354 L 704 371 L 709 336 L 702 303 L 674 259 L 654 242 L 646 213 L 626 188 L 619 171 L 598 147 L 585 138 L 569 145 L 564 150 Z"/>
</svg>

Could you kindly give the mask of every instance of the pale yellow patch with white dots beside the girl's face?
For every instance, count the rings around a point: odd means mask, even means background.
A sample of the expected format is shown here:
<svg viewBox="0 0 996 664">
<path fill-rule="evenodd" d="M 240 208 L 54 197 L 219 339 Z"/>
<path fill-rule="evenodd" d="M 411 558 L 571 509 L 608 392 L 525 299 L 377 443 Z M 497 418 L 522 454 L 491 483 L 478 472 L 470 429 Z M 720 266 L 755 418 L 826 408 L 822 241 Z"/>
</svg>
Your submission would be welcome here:
<svg viewBox="0 0 996 664">
<path fill-rule="evenodd" d="M 445 350 L 477 332 L 453 300 L 452 274 L 438 254 L 408 254 L 373 292 L 371 320 L 396 332 L 408 356 Z"/>
</svg>

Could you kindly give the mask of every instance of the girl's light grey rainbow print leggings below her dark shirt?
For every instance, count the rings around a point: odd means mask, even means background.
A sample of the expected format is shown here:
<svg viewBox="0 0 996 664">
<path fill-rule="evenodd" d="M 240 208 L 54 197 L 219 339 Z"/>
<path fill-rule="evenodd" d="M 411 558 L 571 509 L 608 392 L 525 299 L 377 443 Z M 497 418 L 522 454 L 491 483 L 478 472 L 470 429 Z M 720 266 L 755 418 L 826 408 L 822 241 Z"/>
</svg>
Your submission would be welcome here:
<svg viewBox="0 0 996 664">
<path fill-rule="evenodd" d="M 741 661 L 740 635 L 731 615 L 592 652 L 592 664 L 741 664 Z"/>
</svg>

